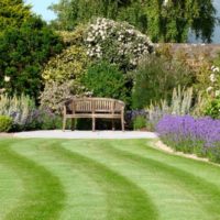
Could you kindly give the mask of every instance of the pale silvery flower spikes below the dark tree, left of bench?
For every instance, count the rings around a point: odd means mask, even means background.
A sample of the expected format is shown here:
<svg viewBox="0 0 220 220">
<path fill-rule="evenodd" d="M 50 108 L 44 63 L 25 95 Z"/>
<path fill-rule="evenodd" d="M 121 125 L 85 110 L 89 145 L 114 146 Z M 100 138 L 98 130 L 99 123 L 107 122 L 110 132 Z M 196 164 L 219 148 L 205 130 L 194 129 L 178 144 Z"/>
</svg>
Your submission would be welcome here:
<svg viewBox="0 0 220 220">
<path fill-rule="evenodd" d="M 29 96 L 0 97 L 0 116 L 8 116 L 13 120 L 15 130 L 29 128 L 35 111 L 34 100 Z"/>
</svg>

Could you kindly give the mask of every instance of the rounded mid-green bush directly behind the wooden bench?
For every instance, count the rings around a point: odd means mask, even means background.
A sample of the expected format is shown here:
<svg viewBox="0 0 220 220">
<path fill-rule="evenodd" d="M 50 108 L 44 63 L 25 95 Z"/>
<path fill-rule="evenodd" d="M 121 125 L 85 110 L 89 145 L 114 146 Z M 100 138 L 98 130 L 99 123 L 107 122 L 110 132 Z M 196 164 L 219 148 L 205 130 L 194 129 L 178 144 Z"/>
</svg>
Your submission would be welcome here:
<svg viewBox="0 0 220 220">
<path fill-rule="evenodd" d="M 95 63 L 88 68 L 81 82 L 96 97 L 128 100 L 127 81 L 117 65 L 107 62 Z"/>
</svg>

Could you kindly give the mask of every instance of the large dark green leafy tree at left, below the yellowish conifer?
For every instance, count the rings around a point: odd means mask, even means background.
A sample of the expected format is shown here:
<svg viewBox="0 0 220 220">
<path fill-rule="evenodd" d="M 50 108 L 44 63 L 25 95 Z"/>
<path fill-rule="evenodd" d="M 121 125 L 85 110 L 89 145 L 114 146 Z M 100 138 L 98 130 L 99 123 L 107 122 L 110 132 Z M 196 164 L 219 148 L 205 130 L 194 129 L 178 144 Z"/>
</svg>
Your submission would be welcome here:
<svg viewBox="0 0 220 220">
<path fill-rule="evenodd" d="M 0 35 L 0 81 L 9 95 L 38 97 L 42 89 L 42 66 L 61 52 L 59 37 L 40 18 L 31 18 L 20 29 L 9 28 Z"/>
</svg>

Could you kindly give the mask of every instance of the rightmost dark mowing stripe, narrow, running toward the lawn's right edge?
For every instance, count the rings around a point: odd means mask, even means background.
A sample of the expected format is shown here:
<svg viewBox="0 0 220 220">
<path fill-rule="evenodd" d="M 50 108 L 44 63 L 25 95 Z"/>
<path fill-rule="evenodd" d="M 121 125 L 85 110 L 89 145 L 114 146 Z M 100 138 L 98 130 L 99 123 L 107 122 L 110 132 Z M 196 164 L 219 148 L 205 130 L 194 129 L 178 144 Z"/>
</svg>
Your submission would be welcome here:
<svg viewBox="0 0 220 220">
<path fill-rule="evenodd" d="M 185 187 L 188 193 L 191 194 L 204 210 L 207 210 L 209 213 L 216 215 L 216 219 L 220 218 L 220 188 L 216 185 L 209 183 L 207 179 L 195 176 L 190 172 L 176 168 L 166 163 L 162 163 L 157 160 L 147 158 L 144 156 L 135 155 L 128 152 L 127 150 L 119 150 L 119 144 L 111 144 L 111 151 L 114 148 L 114 154 L 121 155 L 123 158 L 127 157 L 139 164 L 142 164 L 145 167 L 150 165 L 156 167 L 157 172 L 163 172 L 166 175 L 166 178 L 173 178 L 173 182 L 176 182 L 179 186 Z M 108 148 L 109 150 L 109 148 Z M 120 151 L 120 152 L 119 152 Z"/>
</svg>

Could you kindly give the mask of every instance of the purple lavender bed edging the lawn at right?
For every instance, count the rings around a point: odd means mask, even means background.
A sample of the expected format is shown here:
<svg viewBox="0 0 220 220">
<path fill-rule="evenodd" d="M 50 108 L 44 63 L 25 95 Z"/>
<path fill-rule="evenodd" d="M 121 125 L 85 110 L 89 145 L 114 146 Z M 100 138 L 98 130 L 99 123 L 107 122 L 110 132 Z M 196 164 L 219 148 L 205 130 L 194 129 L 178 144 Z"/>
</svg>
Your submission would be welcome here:
<svg viewBox="0 0 220 220">
<path fill-rule="evenodd" d="M 176 151 L 220 163 L 220 120 L 165 116 L 157 124 L 161 139 Z"/>
</svg>

